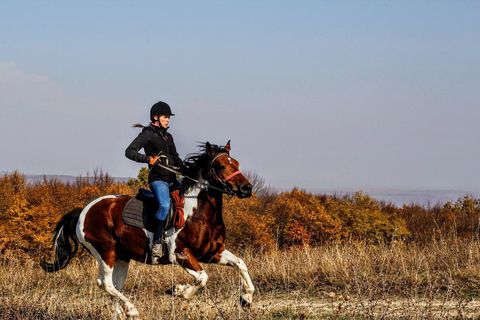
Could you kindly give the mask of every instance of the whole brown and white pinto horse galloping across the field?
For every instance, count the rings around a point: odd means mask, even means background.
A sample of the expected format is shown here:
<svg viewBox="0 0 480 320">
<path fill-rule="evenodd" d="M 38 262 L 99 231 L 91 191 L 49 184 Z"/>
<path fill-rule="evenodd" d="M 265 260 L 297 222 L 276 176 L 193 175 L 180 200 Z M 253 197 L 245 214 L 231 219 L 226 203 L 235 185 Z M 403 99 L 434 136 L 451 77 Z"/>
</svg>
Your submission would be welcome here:
<svg viewBox="0 0 480 320">
<path fill-rule="evenodd" d="M 240 301 L 248 307 L 255 288 L 245 262 L 224 246 L 222 199 L 224 193 L 250 197 L 252 184 L 239 170 L 238 161 L 230 156 L 230 141 L 225 146 L 206 142 L 199 153 L 187 156 L 184 163 L 185 177 L 195 177 L 184 178 L 181 187 L 185 195 L 186 223 L 181 229 L 166 230 L 166 253 L 159 264 L 183 267 L 194 282 L 176 285 L 169 293 L 191 298 L 208 280 L 200 263 L 216 263 L 239 270 L 243 283 Z M 47 272 L 61 270 L 82 245 L 98 262 L 97 284 L 123 303 L 128 318 L 139 315 L 132 301 L 122 294 L 129 262 L 152 264 L 153 240 L 151 232 L 122 221 L 122 211 L 130 199 L 124 195 L 103 196 L 83 209 L 75 208 L 65 214 L 54 230 L 54 260 L 41 261 Z"/>
</svg>

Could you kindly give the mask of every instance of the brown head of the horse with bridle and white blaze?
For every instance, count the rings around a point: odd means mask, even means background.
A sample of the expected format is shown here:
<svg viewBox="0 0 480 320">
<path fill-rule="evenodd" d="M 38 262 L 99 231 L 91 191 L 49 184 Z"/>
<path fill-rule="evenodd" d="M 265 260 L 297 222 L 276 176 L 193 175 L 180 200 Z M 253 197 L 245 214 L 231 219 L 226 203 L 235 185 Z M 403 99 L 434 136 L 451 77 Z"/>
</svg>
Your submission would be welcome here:
<svg viewBox="0 0 480 320">
<path fill-rule="evenodd" d="M 205 149 L 210 159 L 210 182 L 221 185 L 225 191 L 233 192 L 239 198 L 250 197 L 252 184 L 238 169 L 238 161 L 230 157 L 230 140 L 223 148 L 215 148 L 207 142 Z"/>
</svg>

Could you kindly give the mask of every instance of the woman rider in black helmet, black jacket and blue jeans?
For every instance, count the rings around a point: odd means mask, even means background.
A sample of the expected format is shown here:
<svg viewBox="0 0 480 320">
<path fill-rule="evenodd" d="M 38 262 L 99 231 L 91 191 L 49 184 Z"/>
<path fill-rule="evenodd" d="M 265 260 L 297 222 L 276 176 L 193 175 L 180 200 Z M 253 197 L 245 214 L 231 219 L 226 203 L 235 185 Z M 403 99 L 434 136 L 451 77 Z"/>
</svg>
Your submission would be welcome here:
<svg viewBox="0 0 480 320">
<path fill-rule="evenodd" d="M 158 263 L 158 259 L 164 254 L 162 242 L 165 219 L 170 209 L 170 189 L 178 188 L 180 185 L 175 173 L 155 164 L 165 165 L 168 161 L 169 165 L 184 167 L 178 156 L 173 137 L 167 132 L 170 116 L 174 116 L 174 114 L 168 104 L 162 101 L 155 103 L 150 109 L 150 125 L 146 127 L 140 124 L 134 125 L 143 130 L 125 150 L 127 158 L 136 162 L 148 163 L 150 168 L 148 183 L 158 203 L 152 244 L 153 263 Z M 145 154 L 139 152 L 142 148 Z"/>
</svg>

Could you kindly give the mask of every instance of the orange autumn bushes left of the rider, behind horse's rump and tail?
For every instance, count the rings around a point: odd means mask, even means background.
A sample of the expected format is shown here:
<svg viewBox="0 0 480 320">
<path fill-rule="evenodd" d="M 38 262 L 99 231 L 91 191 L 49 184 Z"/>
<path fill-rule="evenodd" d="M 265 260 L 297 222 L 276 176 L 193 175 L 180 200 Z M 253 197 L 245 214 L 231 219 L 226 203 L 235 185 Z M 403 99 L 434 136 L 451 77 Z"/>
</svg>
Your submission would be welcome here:
<svg viewBox="0 0 480 320">
<path fill-rule="evenodd" d="M 0 252 L 51 247 L 55 224 L 65 213 L 106 194 L 131 194 L 131 189 L 99 171 L 74 183 L 46 178 L 27 183 L 18 172 L 0 177 Z"/>
</svg>

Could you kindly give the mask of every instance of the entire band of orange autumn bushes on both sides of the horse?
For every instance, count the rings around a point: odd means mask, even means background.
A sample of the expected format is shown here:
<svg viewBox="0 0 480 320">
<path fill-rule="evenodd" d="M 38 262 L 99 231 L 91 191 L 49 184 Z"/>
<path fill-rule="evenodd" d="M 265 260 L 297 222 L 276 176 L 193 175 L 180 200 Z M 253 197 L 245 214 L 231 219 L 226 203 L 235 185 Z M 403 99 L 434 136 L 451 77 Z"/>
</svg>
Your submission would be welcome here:
<svg viewBox="0 0 480 320">
<path fill-rule="evenodd" d="M 98 170 L 75 182 L 44 178 L 27 183 L 18 172 L 0 177 L 0 252 L 46 250 L 62 215 L 103 195 L 134 195 L 145 187 L 144 176 L 140 171 L 138 179 L 128 183 L 115 182 Z M 345 240 L 427 242 L 479 234 L 480 200 L 469 195 L 431 208 L 413 204 L 398 208 L 362 192 L 338 197 L 298 189 L 254 190 L 251 198 L 224 198 L 229 247 L 268 251 Z"/>
</svg>

